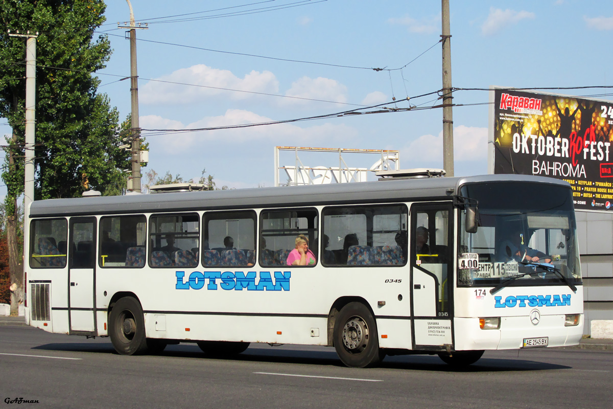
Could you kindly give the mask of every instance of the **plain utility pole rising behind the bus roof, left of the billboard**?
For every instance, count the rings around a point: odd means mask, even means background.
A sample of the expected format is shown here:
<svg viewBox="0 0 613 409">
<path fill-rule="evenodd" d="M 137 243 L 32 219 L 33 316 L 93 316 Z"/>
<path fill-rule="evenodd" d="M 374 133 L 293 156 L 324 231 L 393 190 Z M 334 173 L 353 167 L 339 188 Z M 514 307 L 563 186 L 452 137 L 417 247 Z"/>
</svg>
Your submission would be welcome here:
<svg viewBox="0 0 613 409">
<path fill-rule="evenodd" d="M 449 25 L 449 0 L 441 0 L 443 6 L 443 169 L 446 176 L 454 175 L 454 116 L 451 95 L 451 28 Z"/>
</svg>

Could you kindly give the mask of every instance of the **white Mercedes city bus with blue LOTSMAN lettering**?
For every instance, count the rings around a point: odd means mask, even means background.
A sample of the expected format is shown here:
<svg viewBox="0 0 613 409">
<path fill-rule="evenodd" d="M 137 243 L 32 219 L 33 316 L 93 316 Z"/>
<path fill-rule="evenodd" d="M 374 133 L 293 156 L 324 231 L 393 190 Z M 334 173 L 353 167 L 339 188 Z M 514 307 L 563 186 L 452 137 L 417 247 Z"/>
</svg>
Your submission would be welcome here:
<svg viewBox="0 0 613 409">
<path fill-rule="evenodd" d="M 264 342 L 334 346 L 350 367 L 471 364 L 583 332 L 573 194 L 551 178 L 53 199 L 25 233 L 29 325 L 120 354 Z M 288 266 L 301 234 L 314 261 Z"/>
</svg>

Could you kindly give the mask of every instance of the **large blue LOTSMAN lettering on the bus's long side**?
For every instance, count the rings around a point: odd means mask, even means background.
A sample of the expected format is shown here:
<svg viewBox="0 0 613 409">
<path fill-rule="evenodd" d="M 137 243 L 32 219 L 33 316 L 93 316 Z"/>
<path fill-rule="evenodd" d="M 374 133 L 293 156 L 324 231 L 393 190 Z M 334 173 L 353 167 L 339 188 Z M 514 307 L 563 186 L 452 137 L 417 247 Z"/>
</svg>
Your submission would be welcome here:
<svg viewBox="0 0 613 409">
<path fill-rule="evenodd" d="M 224 290 L 242 291 L 243 288 L 247 291 L 289 291 L 289 279 L 292 273 L 289 271 L 275 271 L 275 280 L 273 282 L 269 271 L 205 271 L 204 273 L 194 271 L 185 278 L 185 271 L 175 272 L 177 277 L 177 285 L 175 289 L 202 289 L 208 280 L 207 290 L 215 291 L 218 286 Z M 257 284 L 256 284 L 256 279 Z M 219 281 L 218 281 L 219 280 Z"/>
</svg>

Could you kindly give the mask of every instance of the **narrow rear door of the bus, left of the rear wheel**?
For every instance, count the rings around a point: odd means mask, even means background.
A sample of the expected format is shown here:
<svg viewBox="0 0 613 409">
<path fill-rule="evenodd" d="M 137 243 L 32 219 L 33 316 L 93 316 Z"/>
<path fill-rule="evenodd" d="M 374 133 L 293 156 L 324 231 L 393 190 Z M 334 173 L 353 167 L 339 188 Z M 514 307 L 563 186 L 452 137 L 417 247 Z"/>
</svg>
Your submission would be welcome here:
<svg viewBox="0 0 613 409">
<path fill-rule="evenodd" d="M 96 331 L 96 218 L 70 218 L 68 319 L 70 334 Z"/>
</svg>

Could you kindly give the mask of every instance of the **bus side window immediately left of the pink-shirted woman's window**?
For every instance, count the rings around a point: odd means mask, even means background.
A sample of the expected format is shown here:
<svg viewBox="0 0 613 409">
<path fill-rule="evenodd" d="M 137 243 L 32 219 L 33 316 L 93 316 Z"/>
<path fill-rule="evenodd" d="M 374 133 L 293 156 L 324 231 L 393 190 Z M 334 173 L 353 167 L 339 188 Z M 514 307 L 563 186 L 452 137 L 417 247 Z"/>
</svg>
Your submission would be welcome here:
<svg viewBox="0 0 613 409">
<path fill-rule="evenodd" d="M 207 212 L 202 218 L 205 267 L 251 267 L 256 258 L 256 212 Z"/>
</svg>

